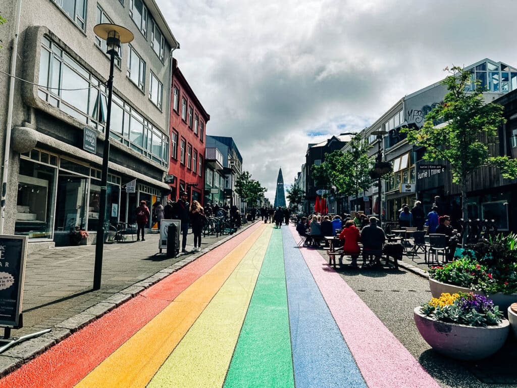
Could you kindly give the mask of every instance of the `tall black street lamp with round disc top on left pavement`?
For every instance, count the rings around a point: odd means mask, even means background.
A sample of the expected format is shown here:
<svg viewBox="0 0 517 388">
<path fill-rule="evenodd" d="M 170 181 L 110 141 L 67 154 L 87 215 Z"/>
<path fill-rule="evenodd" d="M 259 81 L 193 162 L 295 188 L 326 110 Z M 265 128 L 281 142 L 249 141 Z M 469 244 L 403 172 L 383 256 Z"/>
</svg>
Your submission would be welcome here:
<svg viewBox="0 0 517 388">
<path fill-rule="evenodd" d="M 94 33 L 106 41 L 110 55 L 110 77 L 108 78 L 108 109 L 106 115 L 106 129 L 104 131 L 104 149 L 102 151 L 102 174 L 100 183 L 99 224 L 97 226 L 97 241 L 95 243 L 94 290 L 100 289 L 102 275 L 102 255 L 104 248 L 104 218 L 106 214 L 106 191 L 108 186 L 108 161 L 110 158 L 110 122 L 111 99 L 113 95 L 113 68 L 115 56 L 118 56 L 120 43 L 128 43 L 134 36 L 129 29 L 116 24 L 97 24 Z"/>
</svg>

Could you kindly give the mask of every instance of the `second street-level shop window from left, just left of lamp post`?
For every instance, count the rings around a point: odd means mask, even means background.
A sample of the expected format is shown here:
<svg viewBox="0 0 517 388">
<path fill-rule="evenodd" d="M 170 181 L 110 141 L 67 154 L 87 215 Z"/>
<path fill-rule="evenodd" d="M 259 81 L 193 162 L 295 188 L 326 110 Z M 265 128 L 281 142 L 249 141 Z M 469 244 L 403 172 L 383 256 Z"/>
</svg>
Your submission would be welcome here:
<svg viewBox="0 0 517 388">
<path fill-rule="evenodd" d="M 57 178 L 55 230 L 84 229 L 87 178 L 59 171 Z"/>
</svg>

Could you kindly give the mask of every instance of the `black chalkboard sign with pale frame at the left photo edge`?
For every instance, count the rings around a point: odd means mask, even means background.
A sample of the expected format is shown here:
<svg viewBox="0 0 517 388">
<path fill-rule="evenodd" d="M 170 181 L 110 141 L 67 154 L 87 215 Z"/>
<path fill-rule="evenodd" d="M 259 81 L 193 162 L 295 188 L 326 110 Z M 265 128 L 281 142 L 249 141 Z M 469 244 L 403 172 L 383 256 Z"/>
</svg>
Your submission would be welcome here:
<svg viewBox="0 0 517 388">
<path fill-rule="evenodd" d="M 0 326 L 19 327 L 27 236 L 0 234 Z"/>
</svg>

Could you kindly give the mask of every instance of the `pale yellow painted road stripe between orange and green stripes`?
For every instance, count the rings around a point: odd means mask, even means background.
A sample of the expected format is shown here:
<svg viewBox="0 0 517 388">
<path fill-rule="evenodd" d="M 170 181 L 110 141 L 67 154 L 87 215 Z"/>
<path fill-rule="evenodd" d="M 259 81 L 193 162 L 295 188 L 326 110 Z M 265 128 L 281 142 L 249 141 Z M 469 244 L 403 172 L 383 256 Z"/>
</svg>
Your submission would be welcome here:
<svg viewBox="0 0 517 388">
<path fill-rule="evenodd" d="M 268 228 L 248 251 L 148 388 L 223 385 L 271 233 Z"/>
</svg>

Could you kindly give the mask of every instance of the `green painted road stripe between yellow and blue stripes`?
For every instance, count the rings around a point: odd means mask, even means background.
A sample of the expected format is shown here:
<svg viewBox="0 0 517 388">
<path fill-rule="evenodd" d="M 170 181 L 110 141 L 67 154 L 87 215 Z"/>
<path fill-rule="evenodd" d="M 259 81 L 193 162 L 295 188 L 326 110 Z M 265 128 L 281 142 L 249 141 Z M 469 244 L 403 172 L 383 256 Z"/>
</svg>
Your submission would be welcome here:
<svg viewBox="0 0 517 388">
<path fill-rule="evenodd" d="M 224 387 L 294 387 L 280 229 L 273 230 Z"/>
</svg>

